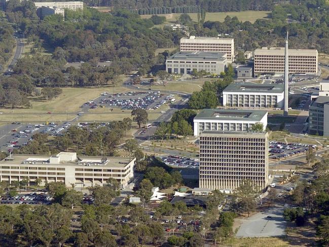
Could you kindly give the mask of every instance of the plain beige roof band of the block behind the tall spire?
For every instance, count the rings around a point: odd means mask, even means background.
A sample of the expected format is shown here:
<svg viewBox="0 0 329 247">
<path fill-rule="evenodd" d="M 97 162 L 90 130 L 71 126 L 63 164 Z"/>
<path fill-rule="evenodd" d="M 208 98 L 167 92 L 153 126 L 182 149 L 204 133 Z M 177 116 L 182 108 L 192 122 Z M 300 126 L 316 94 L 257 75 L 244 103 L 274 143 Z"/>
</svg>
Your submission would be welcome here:
<svg viewBox="0 0 329 247">
<path fill-rule="evenodd" d="M 256 49 L 254 55 L 284 55 L 284 47 L 263 47 Z M 288 49 L 288 56 L 316 56 L 317 50 L 315 49 Z"/>
</svg>

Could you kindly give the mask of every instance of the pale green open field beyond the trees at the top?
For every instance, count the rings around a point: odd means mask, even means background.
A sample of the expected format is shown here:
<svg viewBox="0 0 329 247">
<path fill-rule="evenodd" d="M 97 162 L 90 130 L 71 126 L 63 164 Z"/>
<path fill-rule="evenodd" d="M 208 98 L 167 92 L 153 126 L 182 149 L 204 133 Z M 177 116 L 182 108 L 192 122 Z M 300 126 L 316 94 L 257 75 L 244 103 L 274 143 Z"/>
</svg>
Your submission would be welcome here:
<svg viewBox="0 0 329 247">
<path fill-rule="evenodd" d="M 205 21 L 221 21 L 223 22 L 225 17 L 236 16 L 240 21 L 250 21 L 251 23 L 255 22 L 257 19 L 264 19 L 269 16 L 271 12 L 269 11 L 241 11 L 241 12 L 214 12 L 214 13 L 207 13 Z M 181 14 L 162 14 L 159 16 L 166 17 L 165 24 L 172 24 L 177 21 Z M 195 22 L 198 21 L 198 14 L 197 13 L 190 13 L 191 19 Z M 141 18 L 150 18 L 152 15 L 141 15 Z"/>
</svg>

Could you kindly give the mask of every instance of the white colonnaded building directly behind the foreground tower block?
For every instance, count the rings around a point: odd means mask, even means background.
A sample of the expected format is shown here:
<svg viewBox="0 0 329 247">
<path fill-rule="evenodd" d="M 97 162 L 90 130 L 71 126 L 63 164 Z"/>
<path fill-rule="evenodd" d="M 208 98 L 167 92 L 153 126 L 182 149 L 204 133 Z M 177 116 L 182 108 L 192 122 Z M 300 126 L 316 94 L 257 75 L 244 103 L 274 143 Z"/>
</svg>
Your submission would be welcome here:
<svg viewBox="0 0 329 247">
<path fill-rule="evenodd" d="M 255 123 L 267 126 L 267 111 L 203 109 L 195 118 L 194 135 L 203 131 L 248 131 Z"/>
</svg>

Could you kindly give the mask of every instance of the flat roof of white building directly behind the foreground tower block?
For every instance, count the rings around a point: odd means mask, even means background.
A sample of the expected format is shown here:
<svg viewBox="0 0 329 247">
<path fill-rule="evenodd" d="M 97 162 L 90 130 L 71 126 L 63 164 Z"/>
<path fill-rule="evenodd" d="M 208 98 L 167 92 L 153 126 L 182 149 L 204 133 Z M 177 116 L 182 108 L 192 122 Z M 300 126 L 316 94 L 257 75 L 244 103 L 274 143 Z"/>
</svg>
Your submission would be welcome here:
<svg viewBox="0 0 329 247">
<path fill-rule="evenodd" d="M 262 110 L 226 110 L 226 109 L 203 109 L 194 119 L 222 119 L 222 120 L 243 120 L 261 121 L 267 115 Z"/>
</svg>

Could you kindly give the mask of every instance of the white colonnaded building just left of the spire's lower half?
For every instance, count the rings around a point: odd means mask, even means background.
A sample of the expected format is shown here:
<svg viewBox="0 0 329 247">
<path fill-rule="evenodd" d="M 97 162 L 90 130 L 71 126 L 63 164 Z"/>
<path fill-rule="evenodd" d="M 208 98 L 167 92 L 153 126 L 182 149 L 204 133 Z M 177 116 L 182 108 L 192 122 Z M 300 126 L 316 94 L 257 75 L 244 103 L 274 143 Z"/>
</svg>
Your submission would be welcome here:
<svg viewBox="0 0 329 247">
<path fill-rule="evenodd" d="M 283 107 L 283 84 L 231 83 L 223 90 L 223 105 L 228 107 Z"/>
</svg>

